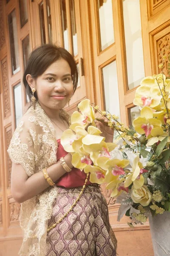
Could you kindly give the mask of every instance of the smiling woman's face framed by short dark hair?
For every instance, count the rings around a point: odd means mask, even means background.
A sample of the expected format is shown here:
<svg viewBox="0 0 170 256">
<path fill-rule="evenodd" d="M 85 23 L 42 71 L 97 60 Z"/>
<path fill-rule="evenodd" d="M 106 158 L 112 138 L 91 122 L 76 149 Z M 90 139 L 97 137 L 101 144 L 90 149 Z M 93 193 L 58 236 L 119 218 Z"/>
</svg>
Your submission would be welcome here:
<svg viewBox="0 0 170 256">
<path fill-rule="evenodd" d="M 73 93 L 71 68 L 63 58 L 55 61 L 37 77 L 38 101 L 45 108 L 64 108 Z"/>
</svg>

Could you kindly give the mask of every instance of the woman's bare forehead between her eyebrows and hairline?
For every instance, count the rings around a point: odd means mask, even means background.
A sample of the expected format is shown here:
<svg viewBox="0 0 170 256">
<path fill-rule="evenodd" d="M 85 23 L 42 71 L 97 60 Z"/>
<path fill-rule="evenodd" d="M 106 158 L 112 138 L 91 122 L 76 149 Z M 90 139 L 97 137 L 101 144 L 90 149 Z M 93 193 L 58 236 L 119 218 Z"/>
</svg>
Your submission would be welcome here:
<svg viewBox="0 0 170 256">
<path fill-rule="evenodd" d="M 46 73 L 53 73 L 55 75 L 64 75 L 65 73 L 71 74 L 71 68 L 65 59 L 60 58 L 59 60 L 55 61 L 51 64 L 45 72 L 42 74 L 44 76 Z"/>
</svg>

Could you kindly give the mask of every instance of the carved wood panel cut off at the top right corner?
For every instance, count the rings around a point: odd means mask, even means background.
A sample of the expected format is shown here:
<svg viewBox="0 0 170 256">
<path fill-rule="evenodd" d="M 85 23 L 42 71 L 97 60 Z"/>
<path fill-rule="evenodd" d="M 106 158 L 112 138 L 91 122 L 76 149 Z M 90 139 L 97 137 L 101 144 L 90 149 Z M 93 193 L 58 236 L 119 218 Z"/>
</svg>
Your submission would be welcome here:
<svg viewBox="0 0 170 256">
<path fill-rule="evenodd" d="M 170 5 L 169 0 L 147 0 L 149 16 L 161 12 L 162 9 Z"/>
</svg>

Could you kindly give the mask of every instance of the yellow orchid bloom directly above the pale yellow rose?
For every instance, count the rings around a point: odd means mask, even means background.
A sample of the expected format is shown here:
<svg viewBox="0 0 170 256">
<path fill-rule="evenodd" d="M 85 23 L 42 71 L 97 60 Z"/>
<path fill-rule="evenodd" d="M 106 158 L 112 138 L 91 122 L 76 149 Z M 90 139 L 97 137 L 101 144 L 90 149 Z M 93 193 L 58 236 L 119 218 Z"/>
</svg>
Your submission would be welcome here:
<svg viewBox="0 0 170 256">
<path fill-rule="evenodd" d="M 135 189 L 139 189 L 144 184 L 144 177 L 142 173 L 148 172 L 143 169 L 142 163 L 139 162 L 139 156 L 137 156 L 133 161 L 132 172 L 129 173 L 125 180 L 125 188 L 133 183 Z"/>
</svg>

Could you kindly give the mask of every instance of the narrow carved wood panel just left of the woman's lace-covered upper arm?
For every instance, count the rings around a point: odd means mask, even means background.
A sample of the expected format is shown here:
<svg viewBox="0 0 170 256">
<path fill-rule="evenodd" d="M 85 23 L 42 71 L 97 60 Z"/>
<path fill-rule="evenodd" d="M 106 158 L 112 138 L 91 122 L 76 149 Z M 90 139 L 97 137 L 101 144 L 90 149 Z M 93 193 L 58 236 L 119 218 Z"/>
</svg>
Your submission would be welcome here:
<svg viewBox="0 0 170 256">
<path fill-rule="evenodd" d="M 11 162 L 11 159 L 8 155 L 8 152 L 7 152 L 7 149 L 9 147 L 9 144 L 10 144 L 10 141 L 11 141 L 11 138 L 12 138 L 12 128 L 11 126 L 8 126 L 6 129 L 5 129 L 5 134 L 6 134 L 6 161 L 7 161 L 7 177 L 8 177 L 8 186 L 11 185 L 11 169 L 12 169 L 12 162 Z"/>
</svg>

